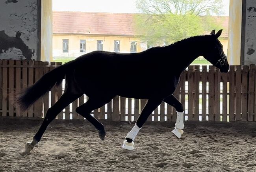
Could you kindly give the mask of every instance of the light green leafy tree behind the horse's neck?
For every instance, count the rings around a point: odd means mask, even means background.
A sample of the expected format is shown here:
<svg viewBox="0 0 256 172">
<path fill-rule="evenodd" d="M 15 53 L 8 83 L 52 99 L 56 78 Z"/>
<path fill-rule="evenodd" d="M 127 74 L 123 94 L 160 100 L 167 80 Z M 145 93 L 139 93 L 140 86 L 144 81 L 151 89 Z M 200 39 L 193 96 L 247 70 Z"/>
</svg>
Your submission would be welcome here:
<svg viewBox="0 0 256 172">
<path fill-rule="evenodd" d="M 219 29 L 209 16 L 223 14 L 222 0 L 137 0 L 137 9 L 137 34 L 153 46 Z"/>
</svg>

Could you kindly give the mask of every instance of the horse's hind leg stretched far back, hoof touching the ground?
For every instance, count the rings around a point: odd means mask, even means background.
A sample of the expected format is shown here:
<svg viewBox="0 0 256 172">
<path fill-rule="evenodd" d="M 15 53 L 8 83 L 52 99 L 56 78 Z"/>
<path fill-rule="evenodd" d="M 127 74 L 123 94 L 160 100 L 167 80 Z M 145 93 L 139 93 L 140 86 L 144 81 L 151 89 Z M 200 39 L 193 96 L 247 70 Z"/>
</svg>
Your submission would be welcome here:
<svg viewBox="0 0 256 172">
<path fill-rule="evenodd" d="M 37 143 L 41 140 L 41 137 L 43 136 L 47 126 L 52 122 L 53 119 L 56 118 L 56 116 L 70 103 L 72 103 L 74 100 L 76 100 L 81 95 L 74 95 L 70 92 L 64 92 L 64 94 L 59 98 L 59 100 L 50 107 L 47 112 L 46 116 L 43 120 L 43 123 L 35 136 L 33 137 L 33 141 L 29 142 L 25 146 L 25 152 L 22 152 L 21 154 L 28 154 L 34 147 L 37 145 Z"/>
</svg>

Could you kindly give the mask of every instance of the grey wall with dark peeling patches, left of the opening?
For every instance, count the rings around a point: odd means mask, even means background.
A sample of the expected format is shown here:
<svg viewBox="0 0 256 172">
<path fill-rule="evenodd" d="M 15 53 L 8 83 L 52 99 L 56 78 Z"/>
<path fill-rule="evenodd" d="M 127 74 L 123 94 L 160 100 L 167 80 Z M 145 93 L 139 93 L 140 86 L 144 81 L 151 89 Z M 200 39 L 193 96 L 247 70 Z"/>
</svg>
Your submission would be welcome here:
<svg viewBox="0 0 256 172">
<path fill-rule="evenodd" d="M 37 59 L 37 7 L 38 0 L 0 1 L 0 59 Z"/>
</svg>

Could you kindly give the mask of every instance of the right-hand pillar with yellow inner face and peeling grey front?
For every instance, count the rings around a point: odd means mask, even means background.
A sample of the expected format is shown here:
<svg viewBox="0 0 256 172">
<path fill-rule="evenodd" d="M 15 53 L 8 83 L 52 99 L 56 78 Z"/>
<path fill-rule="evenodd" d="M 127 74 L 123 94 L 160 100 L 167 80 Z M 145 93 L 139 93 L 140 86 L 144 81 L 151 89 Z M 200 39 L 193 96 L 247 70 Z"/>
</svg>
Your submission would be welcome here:
<svg viewBox="0 0 256 172">
<path fill-rule="evenodd" d="M 228 60 L 256 64 L 256 0 L 230 0 L 229 10 Z"/>
</svg>

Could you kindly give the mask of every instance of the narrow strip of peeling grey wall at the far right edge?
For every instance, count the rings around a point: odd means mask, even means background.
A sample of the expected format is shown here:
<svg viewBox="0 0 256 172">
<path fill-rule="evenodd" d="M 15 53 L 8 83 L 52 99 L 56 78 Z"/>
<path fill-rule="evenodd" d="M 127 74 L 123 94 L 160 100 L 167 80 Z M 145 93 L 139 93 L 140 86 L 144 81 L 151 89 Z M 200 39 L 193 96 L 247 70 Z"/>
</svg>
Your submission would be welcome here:
<svg viewBox="0 0 256 172">
<path fill-rule="evenodd" d="M 243 8 L 243 43 L 244 48 L 241 58 L 243 58 L 243 64 L 250 65 L 256 64 L 256 0 L 245 0 Z"/>
</svg>

